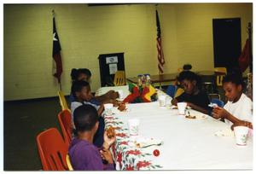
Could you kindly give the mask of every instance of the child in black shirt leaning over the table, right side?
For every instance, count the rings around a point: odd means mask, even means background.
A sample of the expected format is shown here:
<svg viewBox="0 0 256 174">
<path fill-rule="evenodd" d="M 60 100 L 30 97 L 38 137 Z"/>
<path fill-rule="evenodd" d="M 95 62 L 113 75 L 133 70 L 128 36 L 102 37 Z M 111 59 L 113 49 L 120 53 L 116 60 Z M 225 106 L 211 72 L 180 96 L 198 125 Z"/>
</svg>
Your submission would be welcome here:
<svg viewBox="0 0 256 174">
<path fill-rule="evenodd" d="M 201 113 L 211 114 L 212 108 L 207 93 L 201 90 L 201 78 L 191 71 L 183 71 L 177 76 L 177 81 L 183 88 L 182 95 L 172 99 L 172 104 L 187 102 L 187 105 Z"/>
</svg>

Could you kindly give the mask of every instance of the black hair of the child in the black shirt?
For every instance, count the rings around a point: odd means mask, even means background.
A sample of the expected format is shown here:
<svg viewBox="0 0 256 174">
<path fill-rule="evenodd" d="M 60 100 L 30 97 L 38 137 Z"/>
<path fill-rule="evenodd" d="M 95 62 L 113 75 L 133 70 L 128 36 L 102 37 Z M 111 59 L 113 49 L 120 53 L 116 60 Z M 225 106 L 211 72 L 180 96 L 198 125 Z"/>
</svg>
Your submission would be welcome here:
<svg viewBox="0 0 256 174">
<path fill-rule="evenodd" d="M 184 79 L 189 80 L 191 82 L 195 80 L 197 88 L 201 89 L 201 78 L 196 73 L 191 71 L 183 71 L 179 73 L 177 76 L 177 81 L 181 83 Z"/>
</svg>

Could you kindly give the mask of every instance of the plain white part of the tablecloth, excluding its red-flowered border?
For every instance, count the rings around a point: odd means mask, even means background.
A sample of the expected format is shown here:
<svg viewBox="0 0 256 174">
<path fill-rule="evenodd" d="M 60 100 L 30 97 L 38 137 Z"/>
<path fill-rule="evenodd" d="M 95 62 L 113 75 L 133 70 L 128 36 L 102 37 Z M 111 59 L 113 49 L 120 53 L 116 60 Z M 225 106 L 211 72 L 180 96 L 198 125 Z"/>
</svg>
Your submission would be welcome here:
<svg viewBox="0 0 256 174">
<path fill-rule="evenodd" d="M 153 163 L 166 170 L 234 170 L 253 169 L 253 141 L 247 146 L 236 146 L 234 136 L 215 136 L 216 131 L 230 127 L 211 117 L 185 119 L 177 109 L 159 107 L 158 102 L 131 104 L 130 112 L 116 114 L 124 123 L 127 119 L 140 119 L 140 135 L 160 138 L 164 144 L 151 147 L 160 150 Z M 190 111 L 191 115 L 203 115 Z M 127 126 L 127 125 L 126 125 Z M 150 150 L 149 150 L 150 151 Z"/>
</svg>

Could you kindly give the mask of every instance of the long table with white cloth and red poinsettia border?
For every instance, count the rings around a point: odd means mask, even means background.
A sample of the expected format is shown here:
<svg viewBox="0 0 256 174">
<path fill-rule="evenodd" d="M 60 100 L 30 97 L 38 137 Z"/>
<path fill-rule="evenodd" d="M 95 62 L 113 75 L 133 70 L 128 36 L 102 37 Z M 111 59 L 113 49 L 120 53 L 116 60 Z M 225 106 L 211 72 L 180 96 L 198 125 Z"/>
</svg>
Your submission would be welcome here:
<svg viewBox="0 0 256 174">
<path fill-rule="evenodd" d="M 253 139 L 247 146 L 236 145 L 234 136 L 216 136 L 229 130 L 224 122 L 190 110 L 205 119 L 186 119 L 177 109 L 160 107 L 158 102 L 128 104 L 128 110 L 105 116 L 106 126 L 116 127 L 113 156 L 117 170 L 251 170 Z M 131 147 L 128 119 L 140 119 L 140 136 L 161 139 L 164 144 L 148 148 Z M 202 117 L 199 117 L 202 118 Z M 160 156 L 153 155 L 154 149 Z"/>
</svg>

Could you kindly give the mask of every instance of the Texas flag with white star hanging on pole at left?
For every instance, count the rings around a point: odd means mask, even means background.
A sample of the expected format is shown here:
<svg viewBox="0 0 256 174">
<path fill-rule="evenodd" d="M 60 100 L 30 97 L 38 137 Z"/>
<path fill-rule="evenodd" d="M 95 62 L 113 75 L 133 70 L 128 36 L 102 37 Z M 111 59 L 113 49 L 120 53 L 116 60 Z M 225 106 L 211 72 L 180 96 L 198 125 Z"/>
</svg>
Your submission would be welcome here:
<svg viewBox="0 0 256 174">
<path fill-rule="evenodd" d="M 58 79 L 59 84 L 61 83 L 61 73 L 62 73 L 62 62 L 61 62 L 61 44 L 58 37 L 56 26 L 55 26 L 55 17 L 53 17 L 53 49 L 52 57 L 54 59 L 53 66 L 53 76 Z"/>
</svg>

